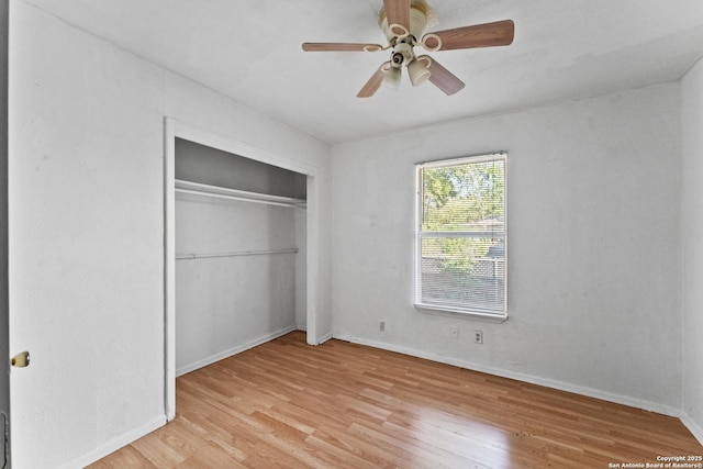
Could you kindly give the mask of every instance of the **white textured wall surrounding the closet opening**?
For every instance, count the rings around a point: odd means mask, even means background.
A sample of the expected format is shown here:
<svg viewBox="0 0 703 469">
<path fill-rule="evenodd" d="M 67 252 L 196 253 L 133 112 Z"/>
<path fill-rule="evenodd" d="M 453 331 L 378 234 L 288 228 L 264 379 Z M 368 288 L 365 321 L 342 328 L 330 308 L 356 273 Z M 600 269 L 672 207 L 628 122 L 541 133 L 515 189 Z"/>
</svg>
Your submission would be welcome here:
<svg viewBox="0 0 703 469">
<path fill-rule="evenodd" d="M 20 1 L 10 34 L 13 462 L 80 467 L 165 422 L 164 116 L 321 174 L 330 149 Z"/>
</svg>

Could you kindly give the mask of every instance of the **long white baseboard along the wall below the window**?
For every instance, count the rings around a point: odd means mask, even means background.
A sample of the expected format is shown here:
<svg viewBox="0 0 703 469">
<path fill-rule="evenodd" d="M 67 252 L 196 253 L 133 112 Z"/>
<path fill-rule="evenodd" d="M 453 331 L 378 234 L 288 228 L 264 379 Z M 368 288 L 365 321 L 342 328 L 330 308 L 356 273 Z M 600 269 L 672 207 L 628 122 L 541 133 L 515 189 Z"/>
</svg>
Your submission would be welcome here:
<svg viewBox="0 0 703 469">
<path fill-rule="evenodd" d="M 657 402 L 650 402 L 650 401 L 646 401 L 637 398 L 632 398 L 628 395 L 614 394 L 614 393 L 601 391 L 598 389 L 585 388 L 585 387 L 581 387 L 581 386 L 577 386 L 577 384 L 572 384 L 563 381 L 540 378 L 532 375 L 523 375 L 523 373 L 504 370 L 500 368 L 486 367 L 482 365 L 472 364 L 470 361 L 458 360 L 455 358 L 427 353 L 425 350 L 417 350 L 414 348 L 401 347 L 401 346 L 387 344 L 382 342 L 367 340 L 364 338 L 348 337 L 346 335 L 339 336 L 339 337 L 335 336 L 335 338 L 338 338 L 341 340 L 352 342 L 355 344 L 368 345 L 369 347 L 381 348 L 390 351 L 397 351 L 399 354 L 410 355 L 412 357 L 425 358 L 432 361 L 453 365 L 455 367 L 484 372 L 488 375 L 499 376 L 499 377 L 509 378 L 509 379 L 515 379 L 518 381 L 528 382 L 531 384 L 544 386 L 546 388 L 558 389 L 560 391 L 573 392 L 574 394 L 585 395 L 588 398 L 601 399 L 603 401 L 609 401 L 609 402 L 613 402 L 622 405 L 628 405 L 631 407 L 637 407 L 637 409 L 641 409 L 649 412 L 656 412 L 659 414 L 669 415 L 677 418 L 681 418 L 681 414 L 682 414 L 680 409 L 677 409 L 670 405 L 663 405 Z"/>
</svg>

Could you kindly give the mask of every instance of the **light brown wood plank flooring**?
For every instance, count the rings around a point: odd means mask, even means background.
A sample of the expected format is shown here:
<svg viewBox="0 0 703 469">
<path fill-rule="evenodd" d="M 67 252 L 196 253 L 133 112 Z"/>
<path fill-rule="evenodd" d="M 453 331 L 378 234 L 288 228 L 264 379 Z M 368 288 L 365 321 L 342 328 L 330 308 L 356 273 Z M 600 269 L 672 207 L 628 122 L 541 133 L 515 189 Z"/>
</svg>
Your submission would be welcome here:
<svg viewBox="0 0 703 469">
<path fill-rule="evenodd" d="M 105 468 L 612 468 L 703 456 L 677 418 L 302 333 L 177 380 Z"/>
</svg>

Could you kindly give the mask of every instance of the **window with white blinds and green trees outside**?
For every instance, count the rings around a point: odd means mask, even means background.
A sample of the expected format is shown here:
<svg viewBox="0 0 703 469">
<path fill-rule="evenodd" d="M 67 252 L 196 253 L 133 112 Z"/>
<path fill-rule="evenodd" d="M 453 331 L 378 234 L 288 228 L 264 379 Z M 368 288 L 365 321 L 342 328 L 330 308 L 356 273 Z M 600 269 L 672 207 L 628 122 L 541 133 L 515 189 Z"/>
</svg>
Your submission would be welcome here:
<svg viewBox="0 0 703 469">
<path fill-rule="evenodd" d="M 417 308 L 506 317 L 505 157 L 417 165 Z"/>
</svg>

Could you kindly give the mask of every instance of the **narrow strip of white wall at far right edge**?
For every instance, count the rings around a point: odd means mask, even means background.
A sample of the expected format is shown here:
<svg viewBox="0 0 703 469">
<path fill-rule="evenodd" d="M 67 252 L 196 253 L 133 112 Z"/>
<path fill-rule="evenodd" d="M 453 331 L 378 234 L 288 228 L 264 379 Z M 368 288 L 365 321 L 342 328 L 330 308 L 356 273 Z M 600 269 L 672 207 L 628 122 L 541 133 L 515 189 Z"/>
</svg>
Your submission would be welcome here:
<svg viewBox="0 0 703 469">
<path fill-rule="evenodd" d="M 703 442 L 703 60 L 681 82 L 683 187 L 683 411 Z"/>
</svg>

